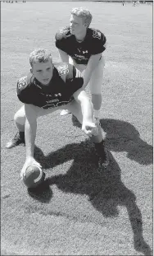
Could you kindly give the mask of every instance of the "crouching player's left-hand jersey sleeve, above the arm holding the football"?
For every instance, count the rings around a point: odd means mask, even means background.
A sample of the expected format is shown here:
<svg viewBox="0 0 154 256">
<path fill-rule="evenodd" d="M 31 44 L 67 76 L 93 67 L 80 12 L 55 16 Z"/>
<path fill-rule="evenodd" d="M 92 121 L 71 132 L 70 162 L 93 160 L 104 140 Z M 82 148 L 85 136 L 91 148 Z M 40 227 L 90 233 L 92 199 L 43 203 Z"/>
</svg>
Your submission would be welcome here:
<svg viewBox="0 0 154 256">
<path fill-rule="evenodd" d="M 17 81 L 16 92 L 18 99 L 25 104 L 32 104 L 29 77 L 21 77 Z"/>
</svg>

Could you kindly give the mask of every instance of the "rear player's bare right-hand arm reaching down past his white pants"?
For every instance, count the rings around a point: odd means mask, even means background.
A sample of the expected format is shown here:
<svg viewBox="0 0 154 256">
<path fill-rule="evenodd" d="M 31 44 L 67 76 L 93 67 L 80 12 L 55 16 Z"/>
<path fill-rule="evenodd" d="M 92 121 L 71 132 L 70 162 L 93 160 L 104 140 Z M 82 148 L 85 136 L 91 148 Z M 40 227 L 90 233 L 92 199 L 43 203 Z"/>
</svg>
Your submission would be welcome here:
<svg viewBox="0 0 154 256">
<path fill-rule="evenodd" d="M 92 72 L 97 67 L 99 63 L 99 59 L 101 58 L 102 54 L 95 54 L 92 55 L 88 60 L 88 65 L 84 71 L 84 88 L 88 85 L 88 82 L 91 78 Z"/>
</svg>

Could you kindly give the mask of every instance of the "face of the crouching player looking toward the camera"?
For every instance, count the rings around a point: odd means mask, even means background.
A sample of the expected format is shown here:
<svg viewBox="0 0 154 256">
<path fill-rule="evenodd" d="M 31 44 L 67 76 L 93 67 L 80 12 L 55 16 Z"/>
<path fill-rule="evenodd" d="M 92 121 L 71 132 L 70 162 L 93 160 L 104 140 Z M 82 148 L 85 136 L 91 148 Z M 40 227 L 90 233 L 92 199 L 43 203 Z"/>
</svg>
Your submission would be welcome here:
<svg viewBox="0 0 154 256">
<path fill-rule="evenodd" d="M 53 73 L 53 65 L 51 60 L 46 63 L 33 63 L 32 73 L 34 74 L 34 77 L 44 86 L 48 86 L 49 81 L 52 79 Z"/>
</svg>

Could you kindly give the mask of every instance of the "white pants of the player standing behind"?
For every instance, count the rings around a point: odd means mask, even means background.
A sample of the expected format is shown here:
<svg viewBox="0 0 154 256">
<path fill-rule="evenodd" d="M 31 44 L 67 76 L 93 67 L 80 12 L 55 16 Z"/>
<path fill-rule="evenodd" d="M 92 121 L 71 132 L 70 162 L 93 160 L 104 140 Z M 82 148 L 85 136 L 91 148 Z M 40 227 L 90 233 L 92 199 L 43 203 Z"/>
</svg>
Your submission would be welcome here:
<svg viewBox="0 0 154 256">
<path fill-rule="evenodd" d="M 74 65 L 80 72 L 83 72 L 87 65 L 76 64 L 75 61 L 69 57 L 69 63 Z M 105 66 L 104 56 L 99 60 L 97 67 L 93 70 L 88 86 L 90 88 L 91 94 L 102 94 L 102 78 Z"/>
</svg>

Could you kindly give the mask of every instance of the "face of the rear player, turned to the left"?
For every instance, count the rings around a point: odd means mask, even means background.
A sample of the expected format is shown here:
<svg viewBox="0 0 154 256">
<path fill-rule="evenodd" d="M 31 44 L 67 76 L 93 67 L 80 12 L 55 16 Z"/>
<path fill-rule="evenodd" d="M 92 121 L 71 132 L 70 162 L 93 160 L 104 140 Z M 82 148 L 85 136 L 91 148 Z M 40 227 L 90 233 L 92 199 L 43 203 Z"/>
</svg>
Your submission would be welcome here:
<svg viewBox="0 0 154 256">
<path fill-rule="evenodd" d="M 81 17 L 75 15 L 70 16 L 70 33 L 72 35 L 78 35 L 86 29 L 85 23 Z"/>
</svg>

